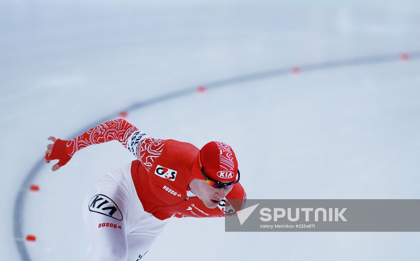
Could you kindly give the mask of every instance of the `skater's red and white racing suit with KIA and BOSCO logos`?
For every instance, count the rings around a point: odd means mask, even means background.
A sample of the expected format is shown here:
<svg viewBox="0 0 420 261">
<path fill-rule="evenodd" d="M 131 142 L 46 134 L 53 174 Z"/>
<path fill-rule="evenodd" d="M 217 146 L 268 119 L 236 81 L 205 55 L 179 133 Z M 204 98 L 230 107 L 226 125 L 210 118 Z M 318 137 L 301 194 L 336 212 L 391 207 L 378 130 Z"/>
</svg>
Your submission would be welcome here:
<svg viewBox="0 0 420 261">
<path fill-rule="evenodd" d="M 56 141 L 50 158 L 62 166 L 77 150 L 110 140 L 121 142 L 137 160 L 105 174 L 88 192 L 83 216 L 91 245 L 83 260 L 139 261 L 172 216 L 221 217 L 226 199 L 246 199 L 237 183 L 216 208 L 207 208 L 188 187 L 197 178 L 192 166 L 199 149 L 154 139 L 123 119 Z"/>
</svg>

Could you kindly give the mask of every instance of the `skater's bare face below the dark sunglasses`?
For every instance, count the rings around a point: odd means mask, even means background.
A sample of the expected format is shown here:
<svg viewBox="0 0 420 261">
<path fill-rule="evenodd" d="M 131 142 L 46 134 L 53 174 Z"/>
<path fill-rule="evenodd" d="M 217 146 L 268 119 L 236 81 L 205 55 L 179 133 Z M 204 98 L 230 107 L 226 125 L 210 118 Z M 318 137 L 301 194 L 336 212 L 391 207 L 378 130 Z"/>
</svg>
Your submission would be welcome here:
<svg viewBox="0 0 420 261">
<path fill-rule="evenodd" d="M 225 198 L 232 190 L 232 187 L 212 187 L 202 179 L 192 179 L 189 183 L 189 187 L 194 195 L 201 199 L 207 208 L 215 208 L 220 203 L 220 200 Z"/>
</svg>

